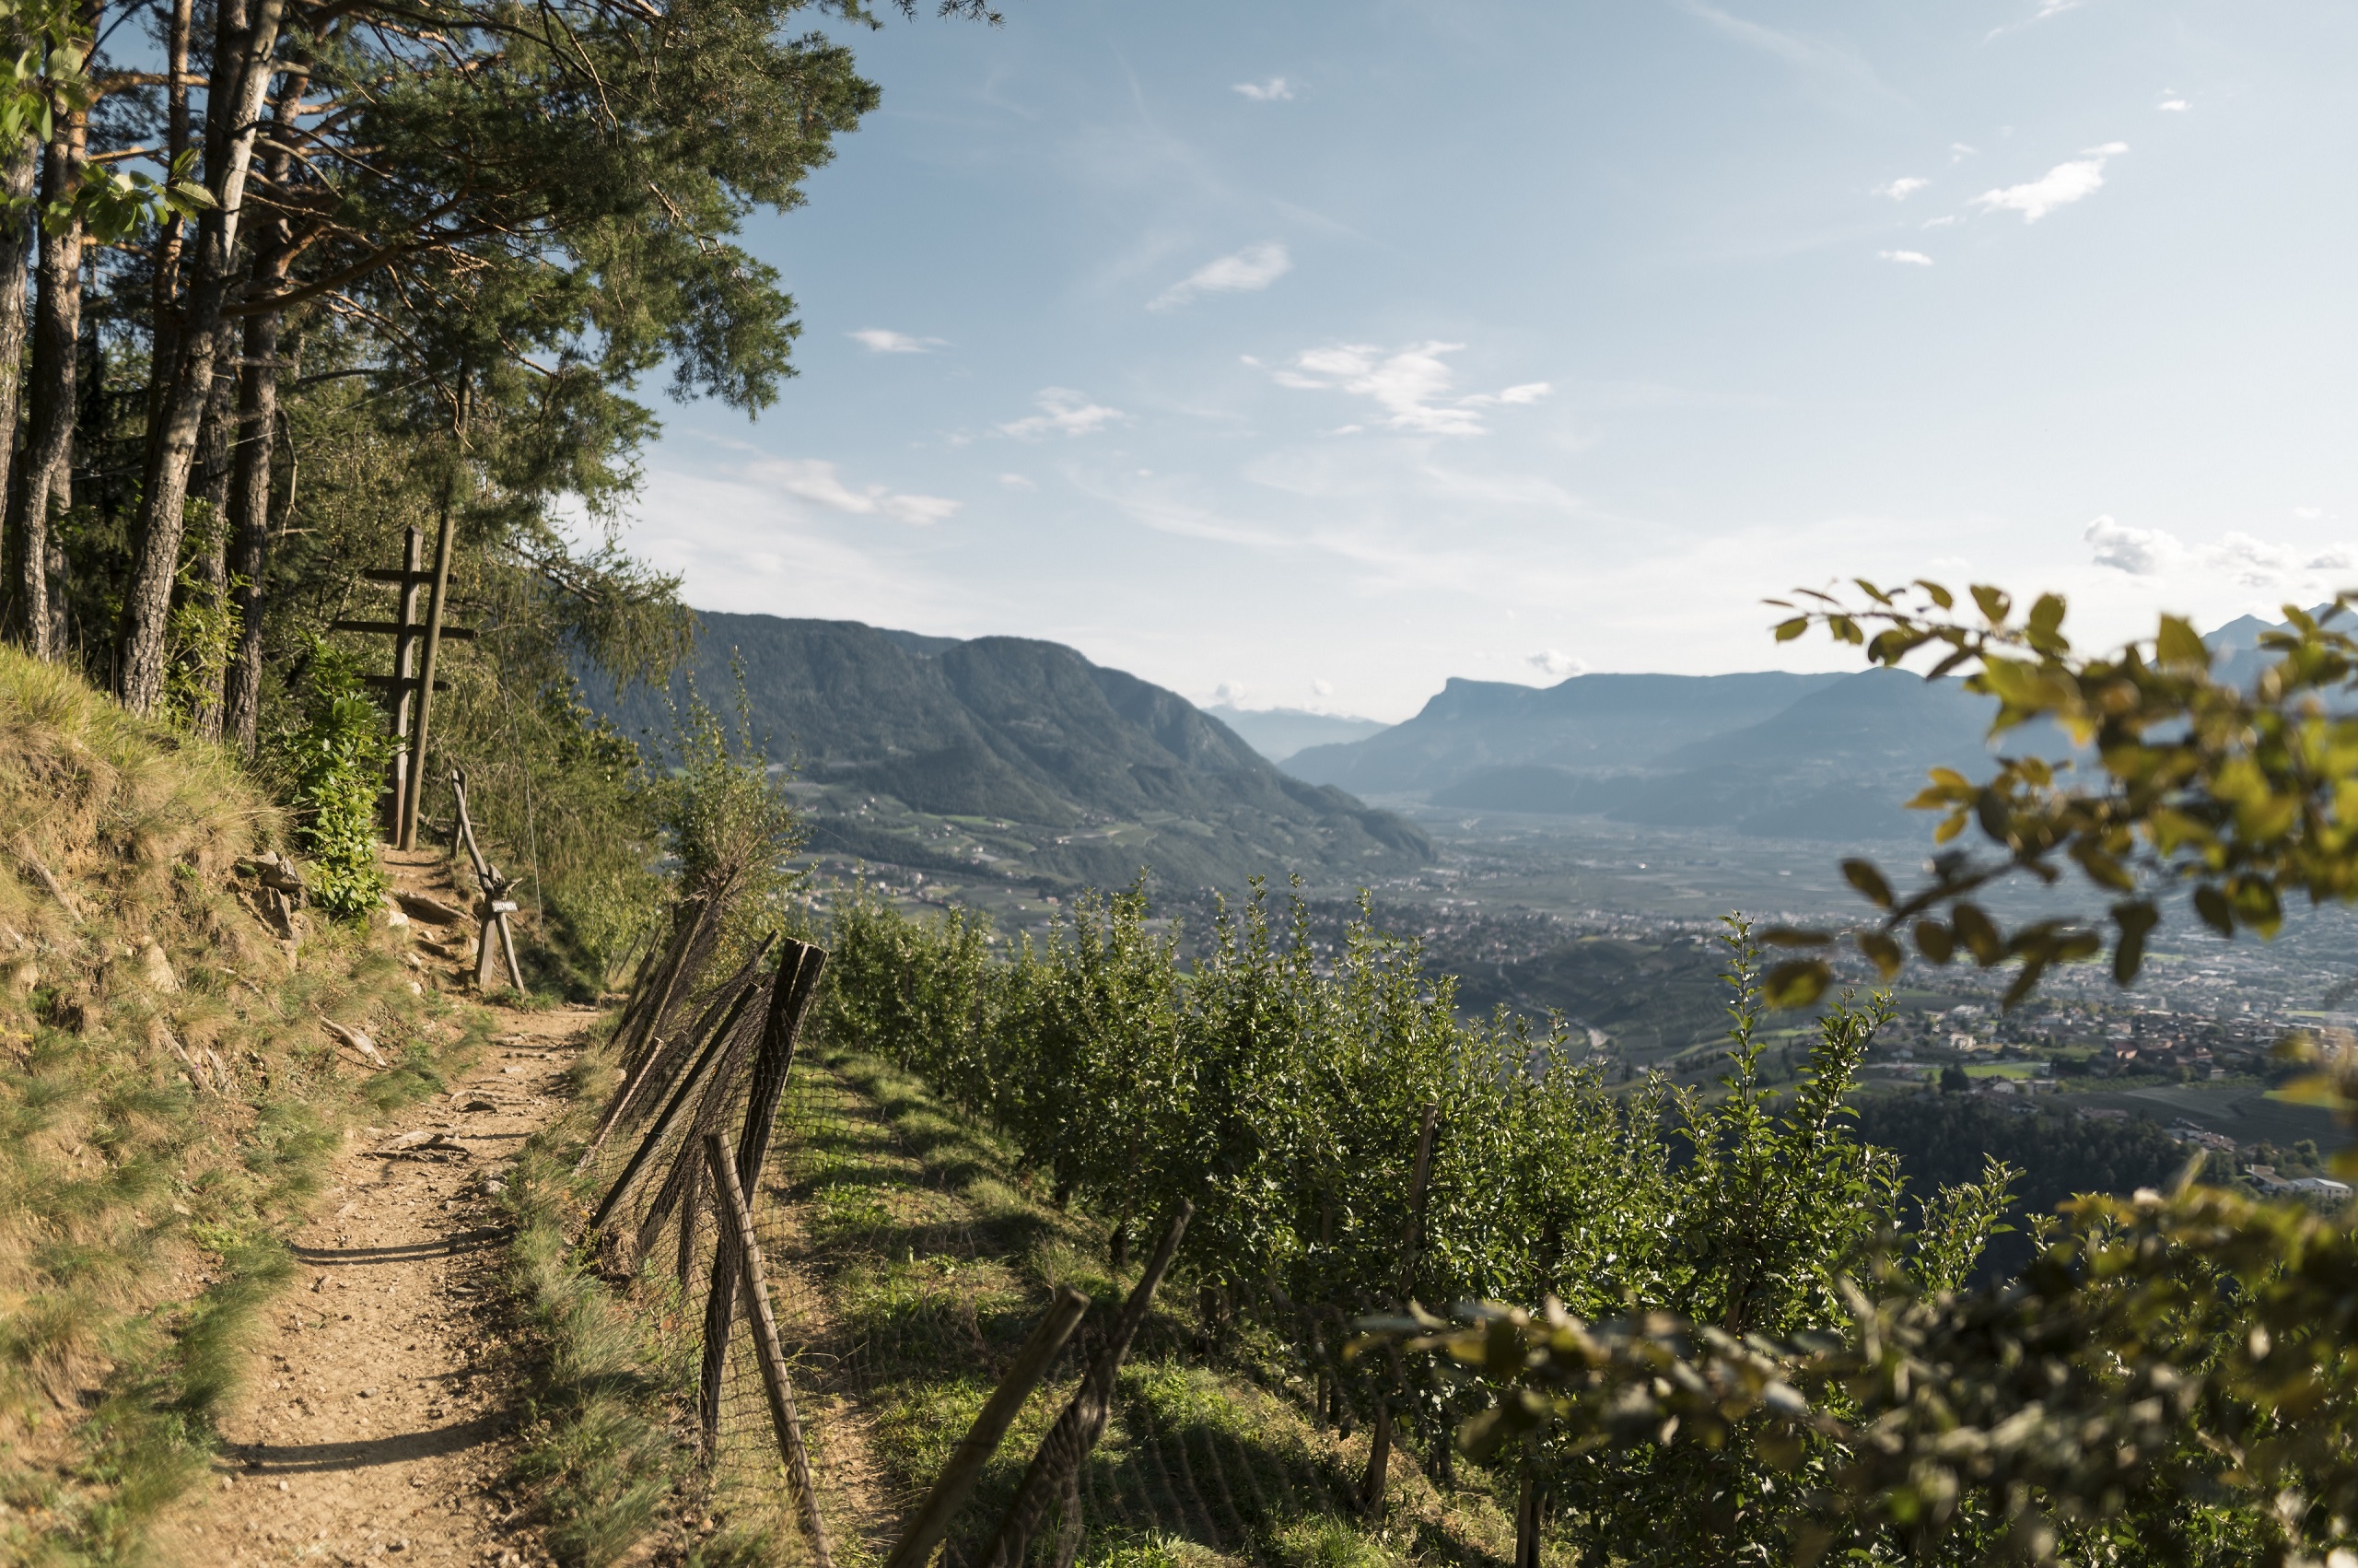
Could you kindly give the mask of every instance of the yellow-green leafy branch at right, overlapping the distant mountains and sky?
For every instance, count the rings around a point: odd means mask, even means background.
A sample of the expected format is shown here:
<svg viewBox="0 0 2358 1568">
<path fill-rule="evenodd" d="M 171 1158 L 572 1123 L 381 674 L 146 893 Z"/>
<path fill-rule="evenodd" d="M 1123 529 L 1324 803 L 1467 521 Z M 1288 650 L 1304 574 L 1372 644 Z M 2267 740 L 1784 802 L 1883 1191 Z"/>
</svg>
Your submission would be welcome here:
<svg viewBox="0 0 2358 1568">
<path fill-rule="evenodd" d="M 1908 804 L 1941 813 L 1938 844 L 1974 828 L 1981 844 L 1934 856 L 1931 879 L 1905 896 L 1872 861 L 1842 863 L 1882 910 L 1853 941 L 1884 976 L 1901 969 L 1905 936 L 1934 964 L 2018 964 L 2004 995 L 2014 1007 L 2054 964 L 2106 948 L 2113 979 L 2134 981 L 2172 891 L 2221 936 L 2273 936 L 2287 896 L 2358 898 L 2358 634 L 2330 625 L 2353 594 L 2323 615 L 2285 606 L 2290 630 L 2261 637 L 2275 663 L 2242 689 L 2214 674 L 2212 651 L 2176 615 L 2162 615 L 2150 639 L 2082 655 L 2063 634 L 2059 594 L 2016 615 L 2007 592 L 1976 585 L 1976 618 L 1938 582 L 1860 578 L 1856 587 L 1856 601 L 1813 589 L 1799 589 L 1802 604 L 1771 599 L 1794 611 L 1776 627 L 1778 641 L 1823 627 L 1882 667 L 1931 651 L 1926 679 L 1962 672 L 1967 691 L 1997 698 L 1993 740 L 2044 719 L 2092 764 L 2000 757 L 1981 783 L 1931 771 Z M 2054 884 L 2070 870 L 2113 898 L 2103 922 L 2037 920 L 2009 931 L 1974 898 L 2007 877 Z M 1764 941 L 1823 948 L 1832 934 L 1778 929 Z M 1802 1007 L 1830 981 L 1823 957 L 1794 957 L 1766 986 L 1776 1004 Z"/>
</svg>

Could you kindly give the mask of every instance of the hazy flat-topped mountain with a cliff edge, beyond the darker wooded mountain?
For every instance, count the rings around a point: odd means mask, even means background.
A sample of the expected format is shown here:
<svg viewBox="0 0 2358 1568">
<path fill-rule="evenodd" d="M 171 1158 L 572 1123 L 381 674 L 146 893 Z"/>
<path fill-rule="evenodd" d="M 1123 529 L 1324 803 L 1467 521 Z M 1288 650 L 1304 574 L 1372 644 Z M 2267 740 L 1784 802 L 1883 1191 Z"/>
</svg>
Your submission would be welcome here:
<svg viewBox="0 0 2358 1568">
<path fill-rule="evenodd" d="M 1478 769 L 1582 773 L 1653 766 L 1665 752 L 1757 724 L 1842 674 L 1575 674 L 1556 686 L 1450 679 L 1405 724 L 1313 745 L 1287 771 L 1372 795 L 1445 790 Z"/>
</svg>

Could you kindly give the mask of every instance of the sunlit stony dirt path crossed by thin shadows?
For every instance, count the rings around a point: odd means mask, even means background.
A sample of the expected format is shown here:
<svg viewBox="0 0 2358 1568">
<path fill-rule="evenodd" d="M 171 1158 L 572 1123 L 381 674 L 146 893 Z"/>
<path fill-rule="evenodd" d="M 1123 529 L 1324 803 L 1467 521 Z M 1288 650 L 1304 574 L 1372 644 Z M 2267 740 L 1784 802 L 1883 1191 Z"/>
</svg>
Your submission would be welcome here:
<svg viewBox="0 0 2358 1568">
<path fill-rule="evenodd" d="M 483 1311 L 502 1240 L 483 1184 L 564 1106 L 590 1016 L 505 1014 L 450 1094 L 335 1160 L 215 1474 L 158 1530 L 165 1561 L 547 1561 L 498 1490 L 516 1358 Z"/>
</svg>

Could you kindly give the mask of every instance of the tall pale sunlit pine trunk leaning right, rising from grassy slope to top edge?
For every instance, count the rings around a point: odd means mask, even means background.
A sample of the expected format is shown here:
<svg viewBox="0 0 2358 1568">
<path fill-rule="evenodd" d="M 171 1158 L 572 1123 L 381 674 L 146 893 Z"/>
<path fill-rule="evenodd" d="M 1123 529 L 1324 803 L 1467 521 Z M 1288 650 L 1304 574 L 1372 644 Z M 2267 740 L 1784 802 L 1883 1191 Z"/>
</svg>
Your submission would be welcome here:
<svg viewBox="0 0 2358 1568">
<path fill-rule="evenodd" d="M 132 712 L 146 712 L 163 696 L 165 622 L 172 615 L 172 578 L 179 571 L 179 538 L 186 523 L 189 469 L 196 436 L 212 396 L 212 370 L 222 347 L 222 307 L 229 302 L 238 252 L 238 215 L 245 174 L 252 167 L 255 132 L 271 85 L 271 54 L 285 0 L 252 0 L 252 19 L 241 26 L 224 0 L 205 106 L 205 184 L 212 193 L 196 226 L 189 285 L 182 304 L 179 354 L 170 365 L 170 389 L 149 429 L 146 483 L 132 526 L 132 573 L 116 625 L 116 696 Z M 158 375 L 165 375 L 158 368 Z"/>
</svg>

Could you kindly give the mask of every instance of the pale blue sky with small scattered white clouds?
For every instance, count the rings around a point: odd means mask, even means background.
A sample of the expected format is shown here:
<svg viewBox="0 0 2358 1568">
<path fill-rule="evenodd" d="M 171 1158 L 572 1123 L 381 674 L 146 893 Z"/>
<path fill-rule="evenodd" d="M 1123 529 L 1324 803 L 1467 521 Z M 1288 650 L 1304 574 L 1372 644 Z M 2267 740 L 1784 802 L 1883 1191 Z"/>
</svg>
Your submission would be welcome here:
<svg viewBox="0 0 2358 1568">
<path fill-rule="evenodd" d="M 1842 667 L 1761 599 L 2358 585 L 2344 0 L 1002 0 L 747 245 L 799 377 L 665 406 L 714 611 L 1403 719 Z"/>
</svg>

